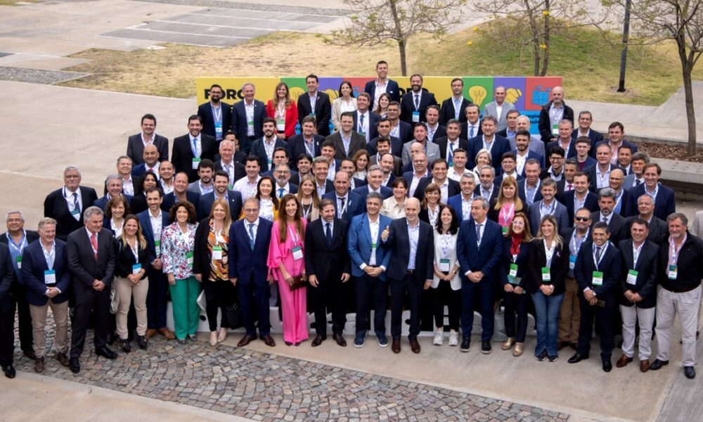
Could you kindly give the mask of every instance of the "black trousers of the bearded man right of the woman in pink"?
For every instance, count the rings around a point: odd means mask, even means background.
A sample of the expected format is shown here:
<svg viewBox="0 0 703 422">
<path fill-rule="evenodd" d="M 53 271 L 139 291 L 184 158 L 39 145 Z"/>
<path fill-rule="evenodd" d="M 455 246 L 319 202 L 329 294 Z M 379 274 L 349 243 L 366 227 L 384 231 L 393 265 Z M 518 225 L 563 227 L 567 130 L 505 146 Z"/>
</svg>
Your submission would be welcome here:
<svg viewBox="0 0 703 422">
<path fill-rule="evenodd" d="M 327 310 L 332 313 L 332 332 L 342 334 L 347 324 L 344 313 L 344 283 L 341 275 L 331 275 L 327 280 L 318 279 L 317 287 L 309 287 L 315 307 L 315 331 L 318 335 L 327 333 Z"/>
</svg>

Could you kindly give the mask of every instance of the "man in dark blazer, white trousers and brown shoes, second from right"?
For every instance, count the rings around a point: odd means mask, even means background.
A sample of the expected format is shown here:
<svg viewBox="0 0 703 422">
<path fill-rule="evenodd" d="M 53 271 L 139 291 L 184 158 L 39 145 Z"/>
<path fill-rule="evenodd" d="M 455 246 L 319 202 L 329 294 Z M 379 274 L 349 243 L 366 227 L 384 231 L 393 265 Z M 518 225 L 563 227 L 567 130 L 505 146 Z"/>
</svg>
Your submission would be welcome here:
<svg viewBox="0 0 703 422">
<path fill-rule="evenodd" d="M 620 314 L 622 316 L 622 356 L 616 366 L 632 362 L 635 350 L 635 324 L 639 321 L 640 371 L 650 369 L 654 306 L 657 305 L 657 269 L 659 246 L 647 240 L 647 222 L 635 219 L 630 227 L 631 239 L 620 241 Z"/>
</svg>

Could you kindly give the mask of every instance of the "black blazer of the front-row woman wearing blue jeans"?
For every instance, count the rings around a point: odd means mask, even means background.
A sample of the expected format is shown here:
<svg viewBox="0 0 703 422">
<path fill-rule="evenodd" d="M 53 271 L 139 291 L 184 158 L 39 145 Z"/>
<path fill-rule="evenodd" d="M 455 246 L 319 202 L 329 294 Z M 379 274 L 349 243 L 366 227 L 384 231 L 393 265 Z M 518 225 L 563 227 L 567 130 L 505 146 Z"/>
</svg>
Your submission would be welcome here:
<svg viewBox="0 0 703 422">
<path fill-rule="evenodd" d="M 528 288 L 530 293 L 535 293 L 543 284 L 551 284 L 554 286 L 553 295 L 561 295 L 565 292 L 564 279 L 569 272 L 569 245 L 562 241 L 562 245 L 557 245 L 554 248 L 552 262 L 549 267 L 551 281 L 549 283 L 542 282 L 542 267 L 547 266 L 547 255 L 544 252 L 544 240 L 533 239 L 529 246 L 529 283 Z"/>
</svg>

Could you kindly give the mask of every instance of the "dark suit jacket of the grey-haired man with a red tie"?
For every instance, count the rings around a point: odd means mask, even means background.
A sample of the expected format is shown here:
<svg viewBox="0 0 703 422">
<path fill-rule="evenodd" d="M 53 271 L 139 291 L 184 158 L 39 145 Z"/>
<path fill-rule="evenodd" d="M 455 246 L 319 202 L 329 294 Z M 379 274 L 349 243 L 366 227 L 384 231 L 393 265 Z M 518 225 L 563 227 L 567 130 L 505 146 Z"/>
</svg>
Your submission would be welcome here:
<svg viewBox="0 0 703 422">
<path fill-rule="evenodd" d="M 68 267 L 71 271 L 71 287 L 76 303 L 88 302 L 95 295 L 110 295 L 112 276 L 115 273 L 115 246 L 112 231 L 101 229 L 98 233 L 98 259 L 84 227 L 68 235 Z M 98 292 L 93 281 L 100 280 L 105 288 Z"/>
</svg>

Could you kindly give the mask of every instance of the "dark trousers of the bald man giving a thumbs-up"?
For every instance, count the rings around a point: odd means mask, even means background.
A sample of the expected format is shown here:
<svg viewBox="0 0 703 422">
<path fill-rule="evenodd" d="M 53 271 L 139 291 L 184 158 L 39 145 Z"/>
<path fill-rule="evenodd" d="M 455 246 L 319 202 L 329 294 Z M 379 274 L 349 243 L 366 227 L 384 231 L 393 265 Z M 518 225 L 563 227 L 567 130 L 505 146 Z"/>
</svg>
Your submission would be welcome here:
<svg viewBox="0 0 703 422">
<path fill-rule="evenodd" d="M 410 332 L 408 339 L 418 338 L 420 333 L 420 295 L 423 286 L 415 280 L 415 274 L 406 274 L 402 280 L 391 280 L 391 336 L 400 338 L 402 331 L 403 305 L 405 294 L 408 293 L 410 308 Z"/>
</svg>

